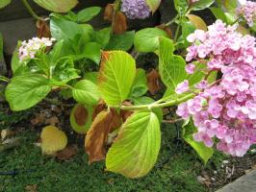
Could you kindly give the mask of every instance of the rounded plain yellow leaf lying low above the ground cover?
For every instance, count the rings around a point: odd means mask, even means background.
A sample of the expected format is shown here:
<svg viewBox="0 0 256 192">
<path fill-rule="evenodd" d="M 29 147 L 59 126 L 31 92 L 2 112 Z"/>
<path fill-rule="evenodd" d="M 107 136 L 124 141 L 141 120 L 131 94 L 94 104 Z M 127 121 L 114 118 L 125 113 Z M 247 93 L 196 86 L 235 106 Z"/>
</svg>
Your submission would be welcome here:
<svg viewBox="0 0 256 192">
<path fill-rule="evenodd" d="M 67 144 L 65 133 L 54 126 L 43 128 L 40 133 L 42 154 L 52 155 L 63 150 Z"/>
</svg>

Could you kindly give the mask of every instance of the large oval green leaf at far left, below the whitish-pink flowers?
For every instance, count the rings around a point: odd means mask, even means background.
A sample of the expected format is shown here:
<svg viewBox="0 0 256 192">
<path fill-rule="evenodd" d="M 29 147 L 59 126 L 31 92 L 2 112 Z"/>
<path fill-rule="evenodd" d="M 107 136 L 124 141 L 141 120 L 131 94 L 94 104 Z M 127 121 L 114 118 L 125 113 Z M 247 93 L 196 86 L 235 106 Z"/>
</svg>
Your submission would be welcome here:
<svg viewBox="0 0 256 192">
<path fill-rule="evenodd" d="M 31 108 L 51 91 L 49 80 L 40 75 L 14 77 L 6 88 L 6 99 L 14 111 Z"/>
</svg>

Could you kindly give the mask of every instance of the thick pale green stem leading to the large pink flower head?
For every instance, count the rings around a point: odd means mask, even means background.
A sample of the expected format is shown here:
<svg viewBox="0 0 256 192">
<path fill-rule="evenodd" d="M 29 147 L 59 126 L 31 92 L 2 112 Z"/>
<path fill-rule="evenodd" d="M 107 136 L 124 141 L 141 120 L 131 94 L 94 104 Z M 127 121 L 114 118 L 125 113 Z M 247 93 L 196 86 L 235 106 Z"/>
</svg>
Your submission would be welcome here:
<svg viewBox="0 0 256 192">
<path fill-rule="evenodd" d="M 146 109 L 146 108 L 166 108 L 166 107 L 171 107 L 171 106 L 176 106 L 180 103 L 186 102 L 189 99 L 192 99 L 194 97 L 194 93 L 188 94 L 184 97 L 177 98 L 175 100 L 171 100 L 165 103 L 158 104 L 153 103 L 149 105 L 141 105 L 141 106 L 121 106 L 121 107 L 114 107 L 114 108 L 120 108 L 122 110 L 138 110 L 138 109 Z"/>
</svg>

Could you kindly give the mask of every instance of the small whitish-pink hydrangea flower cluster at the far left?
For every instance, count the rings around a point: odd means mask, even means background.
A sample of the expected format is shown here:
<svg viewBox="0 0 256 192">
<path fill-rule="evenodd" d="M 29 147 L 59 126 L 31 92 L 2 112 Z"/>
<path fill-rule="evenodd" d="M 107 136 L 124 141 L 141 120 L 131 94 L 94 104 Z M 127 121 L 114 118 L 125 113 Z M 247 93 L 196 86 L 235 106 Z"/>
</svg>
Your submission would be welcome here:
<svg viewBox="0 0 256 192">
<path fill-rule="evenodd" d="M 28 41 L 22 41 L 21 46 L 18 49 L 19 60 L 23 61 L 35 58 L 36 54 L 38 53 L 38 50 L 52 46 L 53 41 L 55 41 L 54 38 L 47 37 L 33 37 Z"/>
</svg>

